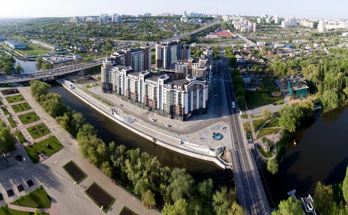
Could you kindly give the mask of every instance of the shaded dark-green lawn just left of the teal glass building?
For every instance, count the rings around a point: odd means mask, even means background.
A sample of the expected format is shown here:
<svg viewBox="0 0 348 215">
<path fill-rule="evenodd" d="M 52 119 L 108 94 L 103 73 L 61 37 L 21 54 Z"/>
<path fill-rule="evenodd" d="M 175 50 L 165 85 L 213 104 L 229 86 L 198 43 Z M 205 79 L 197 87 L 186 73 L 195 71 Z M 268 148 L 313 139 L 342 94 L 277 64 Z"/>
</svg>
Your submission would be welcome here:
<svg viewBox="0 0 348 215">
<path fill-rule="evenodd" d="M 271 93 L 246 93 L 245 99 L 248 106 L 253 107 L 270 104 L 280 105 L 284 102 L 281 96 L 274 97 Z"/>
</svg>

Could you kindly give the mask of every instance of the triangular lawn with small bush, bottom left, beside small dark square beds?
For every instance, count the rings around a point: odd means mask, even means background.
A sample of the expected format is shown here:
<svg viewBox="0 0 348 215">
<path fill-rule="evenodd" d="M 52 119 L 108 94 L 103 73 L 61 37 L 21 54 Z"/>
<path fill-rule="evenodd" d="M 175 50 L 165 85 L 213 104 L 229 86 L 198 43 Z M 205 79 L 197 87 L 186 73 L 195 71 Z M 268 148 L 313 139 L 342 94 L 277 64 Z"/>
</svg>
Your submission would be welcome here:
<svg viewBox="0 0 348 215">
<path fill-rule="evenodd" d="M 25 195 L 22 200 L 17 199 L 10 204 L 31 208 L 50 208 L 51 198 L 48 196 L 45 189 L 41 190 L 38 188 L 31 192 L 30 197 Z"/>
</svg>

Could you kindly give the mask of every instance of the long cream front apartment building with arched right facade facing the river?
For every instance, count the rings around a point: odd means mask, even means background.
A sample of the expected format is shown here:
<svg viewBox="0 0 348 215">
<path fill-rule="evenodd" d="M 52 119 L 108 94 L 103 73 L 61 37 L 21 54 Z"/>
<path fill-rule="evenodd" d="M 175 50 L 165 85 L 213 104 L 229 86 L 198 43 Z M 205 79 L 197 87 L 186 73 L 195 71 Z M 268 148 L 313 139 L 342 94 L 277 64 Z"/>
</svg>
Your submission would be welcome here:
<svg viewBox="0 0 348 215">
<path fill-rule="evenodd" d="M 102 66 L 102 92 L 158 115 L 185 121 L 207 113 L 211 69 L 211 61 L 202 61 L 196 76 L 175 80 L 167 74 L 136 72 L 108 57 Z"/>
</svg>

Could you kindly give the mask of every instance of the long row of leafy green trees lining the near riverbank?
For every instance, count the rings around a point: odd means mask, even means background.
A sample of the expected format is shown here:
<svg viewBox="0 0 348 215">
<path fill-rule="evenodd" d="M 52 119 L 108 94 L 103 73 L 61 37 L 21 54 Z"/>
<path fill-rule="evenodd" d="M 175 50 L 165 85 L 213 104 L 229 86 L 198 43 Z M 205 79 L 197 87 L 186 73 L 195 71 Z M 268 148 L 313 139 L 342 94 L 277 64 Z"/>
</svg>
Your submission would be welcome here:
<svg viewBox="0 0 348 215">
<path fill-rule="evenodd" d="M 236 189 L 213 188 L 213 180 L 196 183 L 185 168 L 162 166 L 157 157 L 130 149 L 115 142 L 108 146 L 97 137 L 97 131 L 81 113 L 71 111 L 61 97 L 48 93 L 50 85 L 38 80 L 30 81 L 32 96 L 56 117 L 64 128 L 78 130 L 77 142 L 81 156 L 100 168 L 106 175 L 141 197 L 148 206 L 164 206 L 163 214 L 217 214 L 243 215 L 237 204 Z M 54 106 L 53 106 L 54 104 Z"/>
</svg>

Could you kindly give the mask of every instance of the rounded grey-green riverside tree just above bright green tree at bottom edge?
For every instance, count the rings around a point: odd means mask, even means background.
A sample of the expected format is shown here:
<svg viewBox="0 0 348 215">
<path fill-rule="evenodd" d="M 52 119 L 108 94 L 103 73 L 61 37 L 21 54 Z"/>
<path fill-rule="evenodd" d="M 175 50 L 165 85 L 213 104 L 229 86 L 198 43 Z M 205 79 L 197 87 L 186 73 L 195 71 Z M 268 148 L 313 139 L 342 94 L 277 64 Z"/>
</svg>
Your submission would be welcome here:
<svg viewBox="0 0 348 215">
<path fill-rule="evenodd" d="M 191 188 L 195 180 L 190 174 L 186 173 L 185 168 L 174 168 L 168 182 L 168 190 L 175 202 L 181 198 L 191 196 Z"/>
</svg>

